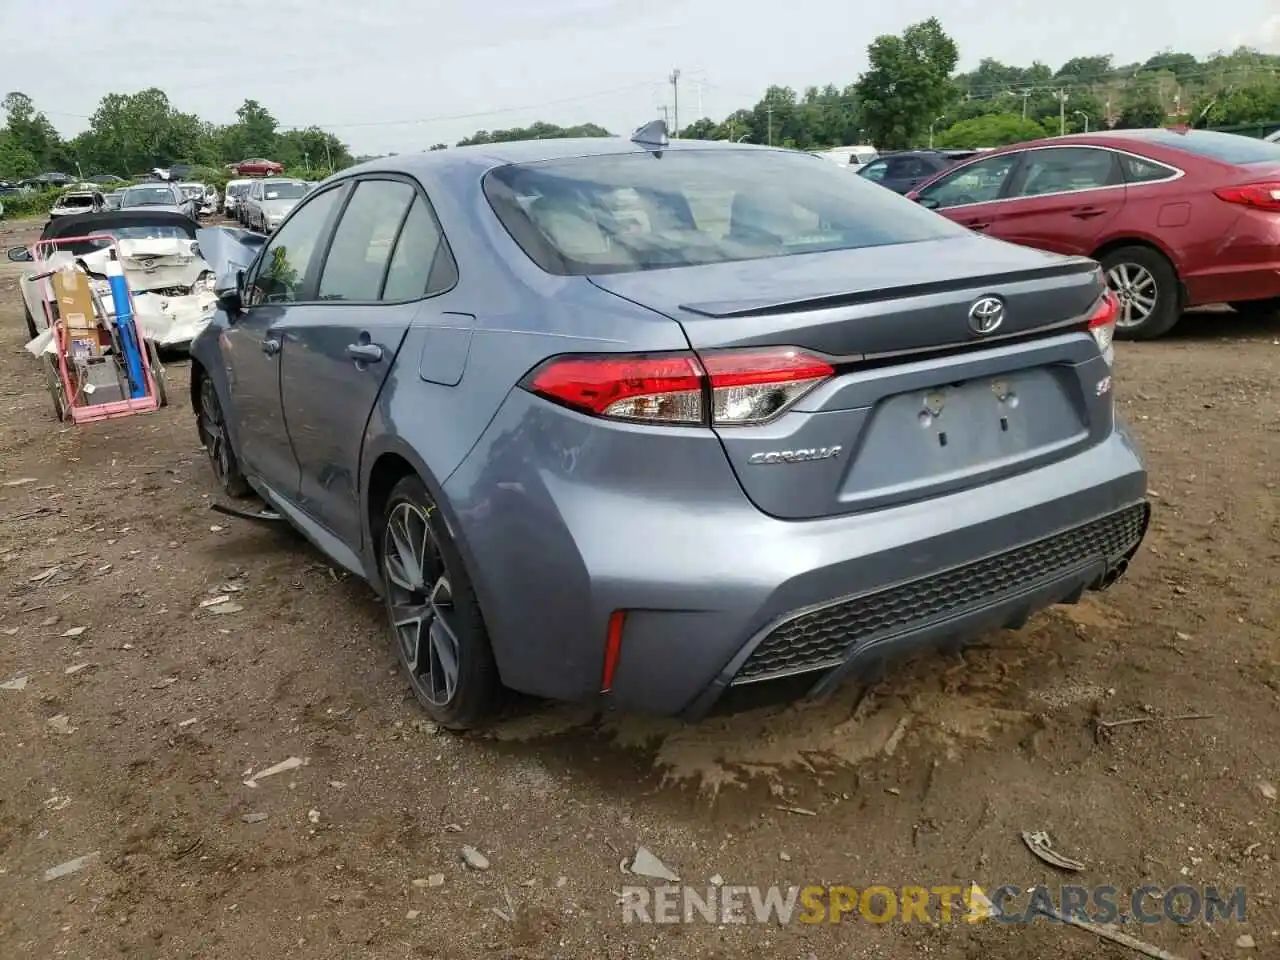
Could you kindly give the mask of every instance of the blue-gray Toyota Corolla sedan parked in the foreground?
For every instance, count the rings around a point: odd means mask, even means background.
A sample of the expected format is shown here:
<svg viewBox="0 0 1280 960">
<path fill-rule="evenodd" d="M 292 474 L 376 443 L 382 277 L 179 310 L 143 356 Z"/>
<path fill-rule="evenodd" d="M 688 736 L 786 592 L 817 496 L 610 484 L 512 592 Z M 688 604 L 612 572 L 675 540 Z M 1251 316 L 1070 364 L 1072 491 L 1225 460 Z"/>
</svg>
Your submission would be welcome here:
<svg viewBox="0 0 1280 960">
<path fill-rule="evenodd" d="M 659 124 L 374 160 L 219 291 L 219 483 L 384 596 L 449 727 L 504 689 L 820 694 L 1110 585 L 1147 527 L 1098 266 L 809 154 Z"/>
</svg>

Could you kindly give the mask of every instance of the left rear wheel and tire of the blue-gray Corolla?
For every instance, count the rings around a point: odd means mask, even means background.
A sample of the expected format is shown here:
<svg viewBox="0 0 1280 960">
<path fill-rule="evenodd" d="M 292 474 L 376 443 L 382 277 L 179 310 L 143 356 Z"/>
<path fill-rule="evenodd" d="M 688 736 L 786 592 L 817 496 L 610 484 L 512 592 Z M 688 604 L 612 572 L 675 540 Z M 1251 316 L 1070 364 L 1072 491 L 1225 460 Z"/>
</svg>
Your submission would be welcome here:
<svg viewBox="0 0 1280 960">
<path fill-rule="evenodd" d="M 378 534 L 392 644 L 413 696 L 443 727 L 481 726 L 502 704 L 498 666 L 462 556 L 420 477 L 396 484 Z"/>
</svg>

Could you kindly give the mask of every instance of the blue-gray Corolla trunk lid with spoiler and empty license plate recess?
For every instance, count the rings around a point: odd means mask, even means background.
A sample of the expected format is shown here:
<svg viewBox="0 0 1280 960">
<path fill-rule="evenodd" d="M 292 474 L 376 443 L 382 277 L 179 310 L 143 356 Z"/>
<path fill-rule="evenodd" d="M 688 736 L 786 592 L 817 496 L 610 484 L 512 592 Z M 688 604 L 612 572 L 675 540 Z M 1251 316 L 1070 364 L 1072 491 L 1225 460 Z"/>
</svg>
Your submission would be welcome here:
<svg viewBox="0 0 1280 960">
<path fill-rule="evenodd" d="M 961 237 L 591 282 L 671 316 L 695 351 L 800 347 L 836 367 L 778 419 L 716 429 L 777 517 L 991 483 L 1112 429 L 1110 365 L 1083 330 L 1103 283 L 1082 257 Z M 982 334 L 970 308 L 988 297 L 1004 316 Z"/>
</svg>

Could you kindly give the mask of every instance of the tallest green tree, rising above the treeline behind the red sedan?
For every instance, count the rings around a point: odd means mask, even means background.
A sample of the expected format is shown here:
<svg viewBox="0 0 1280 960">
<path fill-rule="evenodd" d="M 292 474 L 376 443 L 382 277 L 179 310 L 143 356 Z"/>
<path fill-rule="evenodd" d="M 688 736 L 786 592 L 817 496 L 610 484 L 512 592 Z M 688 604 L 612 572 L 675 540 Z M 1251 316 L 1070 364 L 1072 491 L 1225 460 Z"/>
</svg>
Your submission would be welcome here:
<svg viewBox="0 0 1280 960">
<path fill-rule="evenodd" d="M 870 69 L 856 84 L 863 127 L 882 150 L 909 147 L 947 105 L 956 45 L 931 17 L 900 37 L 877 37 L 867 58 Z"/>
</svg>

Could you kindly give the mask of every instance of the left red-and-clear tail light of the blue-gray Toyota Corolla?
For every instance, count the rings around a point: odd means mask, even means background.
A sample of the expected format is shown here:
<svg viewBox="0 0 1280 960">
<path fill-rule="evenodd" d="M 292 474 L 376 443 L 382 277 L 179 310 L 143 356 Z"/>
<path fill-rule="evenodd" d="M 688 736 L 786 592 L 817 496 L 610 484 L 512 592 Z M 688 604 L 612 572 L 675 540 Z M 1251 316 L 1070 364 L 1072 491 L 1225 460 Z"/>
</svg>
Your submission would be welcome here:
<svg viewBox="0 0 1280 960">
<path fill-rule="evenodd" d="M 782 413 L 835 372 L 794 347 L 553 357 L 521 387 L 593 416 L 741 426 Z"/>
</svg>

